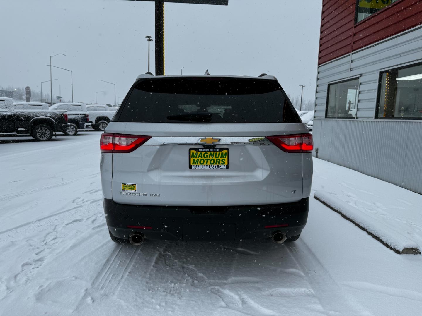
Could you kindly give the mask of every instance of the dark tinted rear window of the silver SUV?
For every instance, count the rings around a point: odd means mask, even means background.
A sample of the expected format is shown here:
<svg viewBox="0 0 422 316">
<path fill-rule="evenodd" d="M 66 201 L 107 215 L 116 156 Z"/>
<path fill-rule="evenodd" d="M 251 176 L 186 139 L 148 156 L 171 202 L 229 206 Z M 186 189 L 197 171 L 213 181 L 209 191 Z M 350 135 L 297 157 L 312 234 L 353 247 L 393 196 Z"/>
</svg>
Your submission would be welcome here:
<svg viewBox="0 0 422 316">
<path fill-rule="evenodd" d="M 135 83 L 121 109 L 113 121 L 186 123 L 184 113 L 208 113 L 209 123 L 300 122 L 279 83 L 264 79 L 142 80 Z"/>
</svg>

